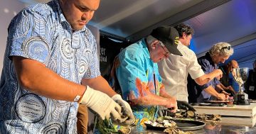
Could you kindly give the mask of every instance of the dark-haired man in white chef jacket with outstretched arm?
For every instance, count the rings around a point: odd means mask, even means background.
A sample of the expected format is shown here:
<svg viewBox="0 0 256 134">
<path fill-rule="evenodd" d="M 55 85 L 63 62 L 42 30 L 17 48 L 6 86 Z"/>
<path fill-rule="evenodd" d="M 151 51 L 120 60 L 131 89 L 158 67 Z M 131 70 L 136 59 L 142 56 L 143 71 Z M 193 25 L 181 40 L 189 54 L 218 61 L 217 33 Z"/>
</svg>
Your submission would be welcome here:
<svg viewBox="0 0 256 134">
<path fill-rule="evenodd" d="M 195 52 L 188 48 L 193 35 L 193 28 L 183 23 L 174 26 L 178 30 L 179 42 L 178 50 L 183 56 L 170 55 L 168 58 L 158 63 L 166 91 L 175 96 L 178 101 L 188 102 L 187 77 L 188 73 L 197 84 L 206 84 L 214 77 L 222 77 L 220 69 L 215 69 L 209 74 L 205 74 L 198 64 Z"/>
</svg>

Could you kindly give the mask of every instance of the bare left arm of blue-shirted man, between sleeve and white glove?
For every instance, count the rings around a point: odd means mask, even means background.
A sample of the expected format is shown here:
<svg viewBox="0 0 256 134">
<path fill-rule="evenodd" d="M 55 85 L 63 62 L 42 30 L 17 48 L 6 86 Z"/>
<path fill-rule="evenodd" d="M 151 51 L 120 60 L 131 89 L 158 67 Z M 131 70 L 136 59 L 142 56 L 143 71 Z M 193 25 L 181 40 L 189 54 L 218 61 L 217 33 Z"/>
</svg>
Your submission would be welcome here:
<svg viewBox="0 0 256 134">
<path fill-rule="evenodd" d="M 74 101 L 82 96 L 85 86 L 70 82 L 46 68 L 41 62 L 23 57 L 13 57 L 18 83 L 34 94 L 50 99 Z"/>
</svg>

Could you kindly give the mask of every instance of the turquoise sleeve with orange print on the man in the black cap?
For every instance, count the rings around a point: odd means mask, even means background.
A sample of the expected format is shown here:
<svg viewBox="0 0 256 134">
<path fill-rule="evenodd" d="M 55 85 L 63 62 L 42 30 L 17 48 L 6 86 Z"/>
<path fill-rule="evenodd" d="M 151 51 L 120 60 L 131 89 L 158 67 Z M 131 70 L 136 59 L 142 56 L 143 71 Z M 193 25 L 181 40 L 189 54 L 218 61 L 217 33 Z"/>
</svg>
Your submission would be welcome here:
<svg viewBox="0 0 256 134">
<path fill-rule="evenodd" d="M 132 50 L 123 50 L 118 57 L 120 65 L 117 67 L 116 73 L 123 98 L 138 99 L 149 94 L 147 74 L 143 68 L 143 57 Z"/>
</svg>

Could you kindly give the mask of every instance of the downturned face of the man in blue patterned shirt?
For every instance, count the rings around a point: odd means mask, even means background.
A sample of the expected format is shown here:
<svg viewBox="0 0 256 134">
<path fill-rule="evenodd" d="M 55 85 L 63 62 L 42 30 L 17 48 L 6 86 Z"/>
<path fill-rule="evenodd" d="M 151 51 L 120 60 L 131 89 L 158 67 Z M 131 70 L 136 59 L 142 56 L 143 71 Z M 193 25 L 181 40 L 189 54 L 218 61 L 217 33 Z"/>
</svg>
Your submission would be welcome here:
<svg viewBox="0 0 256 134">
<path fill-rule="evenodd" d="M 63 0 L 62 11 L 73 30 L 81 30 L 98 9 L 100 0 Z"/>
</svg>

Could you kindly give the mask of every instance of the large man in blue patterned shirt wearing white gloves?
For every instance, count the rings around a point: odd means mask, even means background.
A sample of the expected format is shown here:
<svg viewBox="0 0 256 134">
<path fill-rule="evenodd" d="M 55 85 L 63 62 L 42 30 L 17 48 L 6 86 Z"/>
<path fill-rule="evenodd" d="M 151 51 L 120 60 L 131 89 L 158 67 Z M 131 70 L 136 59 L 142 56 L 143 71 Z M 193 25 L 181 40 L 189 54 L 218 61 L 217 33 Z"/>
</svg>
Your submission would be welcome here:
<svg viewBox="0 0 256 134">
<path fill-rule="evenodd" d="M 78 102 L 102 119 L 132 122 L 122 118 L 132 116 L 129 104 L 100 76 L 95 38 L 85 26 L 99 4 L 53 0 L 13 18 L 1 73 L 0 133 L 77 133 Z"/>
</svg>

